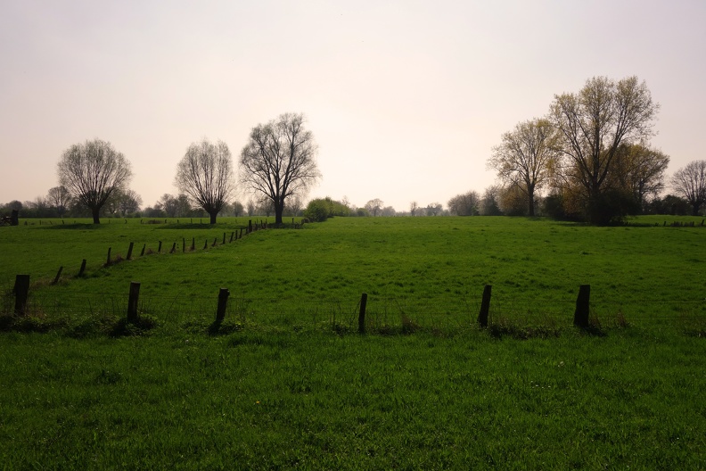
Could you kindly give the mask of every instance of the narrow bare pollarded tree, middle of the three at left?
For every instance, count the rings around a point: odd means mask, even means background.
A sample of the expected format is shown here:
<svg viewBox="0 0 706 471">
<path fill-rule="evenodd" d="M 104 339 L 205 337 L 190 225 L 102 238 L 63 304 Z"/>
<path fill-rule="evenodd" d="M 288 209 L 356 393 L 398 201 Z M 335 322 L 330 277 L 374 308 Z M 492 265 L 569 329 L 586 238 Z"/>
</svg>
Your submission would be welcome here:
<svg viewBox="0 0 706 471">
<path fill-rule="evenodd" d="M 223 141 L 211 144 L 207 139 L 193 143 L 176 168 L 176 187 L 203 208 L 216 224 L 216 217 L 233 194 L 233 162 Z"/>
</svg>

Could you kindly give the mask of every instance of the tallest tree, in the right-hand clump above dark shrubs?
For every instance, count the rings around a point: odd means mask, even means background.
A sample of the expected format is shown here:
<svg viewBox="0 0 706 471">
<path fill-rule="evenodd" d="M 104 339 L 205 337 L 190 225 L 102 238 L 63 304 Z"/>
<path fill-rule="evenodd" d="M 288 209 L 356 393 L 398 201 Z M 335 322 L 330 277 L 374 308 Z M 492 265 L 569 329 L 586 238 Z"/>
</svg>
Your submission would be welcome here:
<svg viewBox="0 0 706 471">
<path fill-rule="evenodd" d="M 583 187 L 590 222 L 604 224 L 612 218 L 605 184 L 620 144 L 652 136 L 658 110 L 659 104 L 653 103 L 649 89 L 636 77 L 618 82 L 590 78 L 578 94 L 554 96 L 551 119 L 568 160 L 564 178 Z"/>
</svg>

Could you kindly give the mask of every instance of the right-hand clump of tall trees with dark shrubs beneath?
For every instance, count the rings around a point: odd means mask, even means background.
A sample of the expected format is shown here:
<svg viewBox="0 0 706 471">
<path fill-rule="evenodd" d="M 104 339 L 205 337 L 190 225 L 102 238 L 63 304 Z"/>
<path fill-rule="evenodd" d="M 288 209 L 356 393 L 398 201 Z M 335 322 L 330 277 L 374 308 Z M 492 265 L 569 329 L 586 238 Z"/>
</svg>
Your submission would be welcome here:
<svg viewBox="0 0 706 471">
<path fill-rule="evenodd" d="M 523 121 L 501 136 L 488 168 L 497 171 L 502 199 L 523 202 L 556 218 L 610 224 L 627 215 L 699 214 L 706 202 L 706 161 L 693 161 L 669 180 L 669 156 L 650 144 L 660 105 L 636 77 L 587 80 L 578 93 L 554 95 L 546 116 Z M 513 200 L 515 204 L 513 204 Z M 666 211 L 665 211 L 666 210 Z"/>
</svg>

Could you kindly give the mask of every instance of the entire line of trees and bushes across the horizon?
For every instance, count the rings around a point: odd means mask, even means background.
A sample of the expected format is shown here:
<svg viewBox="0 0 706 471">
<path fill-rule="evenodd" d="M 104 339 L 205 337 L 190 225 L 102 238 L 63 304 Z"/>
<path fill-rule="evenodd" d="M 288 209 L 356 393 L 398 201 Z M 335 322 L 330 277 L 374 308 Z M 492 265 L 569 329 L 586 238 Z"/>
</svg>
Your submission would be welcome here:
<svg viewBox="0 0 706 471">
<path fill-rule="evenodd" d="M 439 202 L 395 211 L 374 198 L 362 208 L 329 197 L 308 203 L 311 220 L 332 216 L 527 215 L 611 224 L 642 213 L 697 215 L 706 206 L 706 161 L 693 161 L 669 179 L 669 156 L 650 143 L 659 112 L 644 82 L 636 77 L 587 80 L 578 93 L 554 95 L 545 116 L 521 121 L 500 137 L 487 165 L 498 183 L 480 196 L 456 194 L 444 210 Z M 207 139 L 189 145 L 176 165 L 180 193 L 164 194 L 144 210 L 147 217 L 299 214 L 302 198 L 321 175 L 316 141 L 302 114 L 285 113 L 250 131 L 235 178 L 228 146 Z M 126 216 L 139 211 L 139 195 L 127 188 L 130 162 L 100 139 L 71 145 L 57 165 L 59 186 L 34 202 L 10 202 L 0 211 L 25 216 Z M 252 195 L 246 206 L 232 202 L 236 180 Z M 543 196 L 540 196 L 544 194 Z M 345 198 L 344 198 L 345 200 Z"/>
</svg>

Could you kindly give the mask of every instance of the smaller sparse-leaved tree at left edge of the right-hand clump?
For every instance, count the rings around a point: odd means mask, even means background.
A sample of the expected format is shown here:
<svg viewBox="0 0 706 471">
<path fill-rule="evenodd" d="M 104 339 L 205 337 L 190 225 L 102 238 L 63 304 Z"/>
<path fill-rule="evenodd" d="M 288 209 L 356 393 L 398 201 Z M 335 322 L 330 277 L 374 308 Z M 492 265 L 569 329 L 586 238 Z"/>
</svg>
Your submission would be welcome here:
<svg viewBox="0 0 706 471">
<path fill-rule="evenodd" d="M 548 176 L 556 151 L 556 132 L 548 120 L 536 119 L 519 123 L 502 136 L 502 144 L 493 148 L 488 167 L 506 185 L 514 185 L 527 196 L 527 209 L 535 215 L 535 191 Z"/>
</svg>

